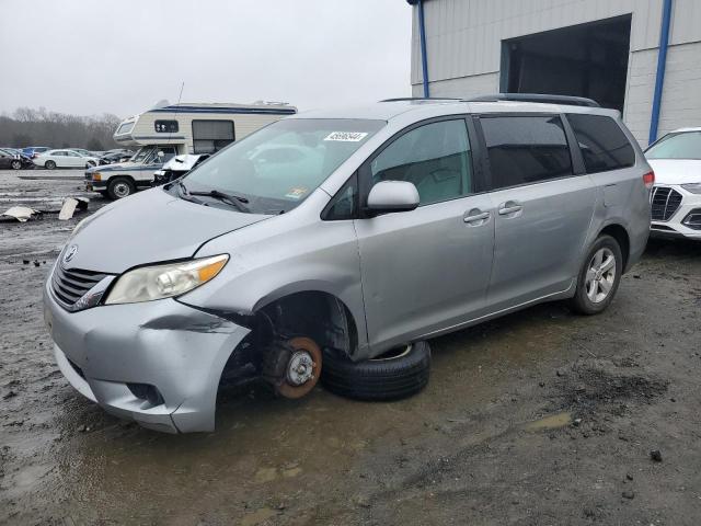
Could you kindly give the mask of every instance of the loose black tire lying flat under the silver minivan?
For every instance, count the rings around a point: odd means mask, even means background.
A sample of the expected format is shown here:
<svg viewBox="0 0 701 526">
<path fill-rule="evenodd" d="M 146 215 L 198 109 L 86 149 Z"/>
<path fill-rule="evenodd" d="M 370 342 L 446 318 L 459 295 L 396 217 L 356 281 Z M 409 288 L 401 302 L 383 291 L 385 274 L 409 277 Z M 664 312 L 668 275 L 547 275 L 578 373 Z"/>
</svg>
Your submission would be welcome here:
<svg viewBox="0 0 701 526">
<path fill-rule="evenodd" d="M 399 400 L 426 387 L 429 371 L 430 346 L 426 342 L 358 363 L 324 350 L 321 382 L 327 390 L 356 400 Z"/>
</svg>

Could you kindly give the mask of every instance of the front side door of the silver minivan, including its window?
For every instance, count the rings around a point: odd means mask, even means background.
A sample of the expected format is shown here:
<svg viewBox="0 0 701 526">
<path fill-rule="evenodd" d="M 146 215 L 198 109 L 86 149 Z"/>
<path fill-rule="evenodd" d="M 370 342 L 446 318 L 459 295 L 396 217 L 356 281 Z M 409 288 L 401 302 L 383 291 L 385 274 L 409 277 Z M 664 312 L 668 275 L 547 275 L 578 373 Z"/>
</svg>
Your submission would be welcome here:
<svg viewBox="0 0 701 526">
<path fill-rule="evenodd" d="M 481 171 L 480 171 L 481 173 Z M 412 182 L 420 206 L 355 221 L 371 347 L 479 317 L 492 268 L 492 203 L 475 178 L 463 117 L 418 123 L 360 169 L 360 202 L 380 181 Z"/>
</svg>

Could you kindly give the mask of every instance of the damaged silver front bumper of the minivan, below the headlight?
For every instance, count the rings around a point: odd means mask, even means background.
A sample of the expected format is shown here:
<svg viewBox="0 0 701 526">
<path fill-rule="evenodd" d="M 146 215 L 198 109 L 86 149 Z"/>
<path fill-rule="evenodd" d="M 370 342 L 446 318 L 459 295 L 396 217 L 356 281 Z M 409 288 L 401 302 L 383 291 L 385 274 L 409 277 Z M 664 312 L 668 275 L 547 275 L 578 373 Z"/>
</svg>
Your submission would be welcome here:
<svg viewBox="0 0 701 526">
<path fill-rule="evenodd" d="M 174 299 L 68 312 L 47 282 L 44 317 L 58 367 L 105 411 L 157 431 L 212 431 L 221 371 L 249 329 Z M 127 384 L 153 386 L 153 405 Z"/>
</svg>

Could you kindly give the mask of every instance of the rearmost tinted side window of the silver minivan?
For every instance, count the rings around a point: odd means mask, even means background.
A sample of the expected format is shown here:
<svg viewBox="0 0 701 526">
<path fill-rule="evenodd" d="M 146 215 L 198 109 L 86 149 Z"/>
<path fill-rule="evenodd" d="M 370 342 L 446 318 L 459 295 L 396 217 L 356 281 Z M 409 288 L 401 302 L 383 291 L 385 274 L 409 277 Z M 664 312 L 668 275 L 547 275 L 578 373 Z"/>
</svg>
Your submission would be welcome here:
<svg viewBox="0 0 701 526">
<path fill-rule="evenodd" d="M 606 172 L 635 164 L 635 150 L 611 117 L 571 113 L 567 121 L 579 144 L 587 173 Z"/>
</svg>

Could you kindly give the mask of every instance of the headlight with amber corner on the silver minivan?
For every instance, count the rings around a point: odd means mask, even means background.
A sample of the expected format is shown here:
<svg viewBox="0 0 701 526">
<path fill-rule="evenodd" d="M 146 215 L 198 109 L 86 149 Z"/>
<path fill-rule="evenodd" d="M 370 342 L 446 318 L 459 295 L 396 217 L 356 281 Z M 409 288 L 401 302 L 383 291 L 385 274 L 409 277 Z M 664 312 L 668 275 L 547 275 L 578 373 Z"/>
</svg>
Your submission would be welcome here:
<svg viewBox="0 0 701 526">
<path fill-rule="evenodd" d="M 221 254 L 135 268 L 117 278 L 105 305 L 136 304 L 180 296 L 214 278 L 227 261 L 229 256 Z"/>
</svg>

